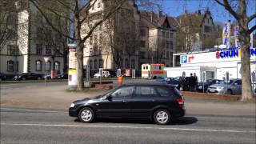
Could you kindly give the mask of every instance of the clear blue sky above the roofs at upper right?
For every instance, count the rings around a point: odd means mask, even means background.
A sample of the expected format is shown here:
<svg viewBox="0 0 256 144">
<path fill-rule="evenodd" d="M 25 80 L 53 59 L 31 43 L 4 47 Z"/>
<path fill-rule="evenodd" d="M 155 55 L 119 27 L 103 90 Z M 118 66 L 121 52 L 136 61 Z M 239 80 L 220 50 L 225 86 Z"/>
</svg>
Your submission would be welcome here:
<svg viewBox="0 0 256 144">
<path fill-rule="evenodd" d="M 247 7 L 247 14 L 255 14 L 256 0 L 249 0 L 249 2 L 250 5 Z M 231 21 L 234 20 L 232 15 L 230 15 L 222 6 L 219 6 L 218 3 L 214 2 L 214 0 L 163 0 L 162 7 L 164 13 L 172 17 L 184 14 L 185 10 L 188 10 L 188 12 L 195 12 L 196 10 L 204 12 L 207 7 L 209 7 L 214 22 L 227 22 L 228 19 Z M 256 20 L 254 18 L 254 22 L 251 22 L 250 26 L 255 24 Z"/>
</svg>

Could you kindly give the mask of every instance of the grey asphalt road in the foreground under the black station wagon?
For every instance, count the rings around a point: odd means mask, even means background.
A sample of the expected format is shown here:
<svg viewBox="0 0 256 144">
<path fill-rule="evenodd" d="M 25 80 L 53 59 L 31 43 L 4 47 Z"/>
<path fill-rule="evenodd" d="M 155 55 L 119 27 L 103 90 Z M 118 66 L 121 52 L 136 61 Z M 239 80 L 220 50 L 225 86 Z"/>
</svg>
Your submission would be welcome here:
<svg viewBox="0 0 256 144">
<path fill-rule="evenodd" d="M 1 109 L 1 143 L 254 143 L 254 116 L 186 115 L 171 125 L 145 120 L 85 124 L 66 111 Z"/>
</svg>

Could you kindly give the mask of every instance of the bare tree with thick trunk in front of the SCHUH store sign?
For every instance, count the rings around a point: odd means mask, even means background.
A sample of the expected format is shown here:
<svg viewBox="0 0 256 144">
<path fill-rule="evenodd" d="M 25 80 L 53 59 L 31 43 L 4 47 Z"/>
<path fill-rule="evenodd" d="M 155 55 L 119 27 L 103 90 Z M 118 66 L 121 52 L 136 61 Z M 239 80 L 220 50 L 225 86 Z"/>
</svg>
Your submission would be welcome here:
<svg viewBox="0 0 256 144">
<path fill-rule="evenodd" d="M 249 23 L 256 18 L 256 14 L 250 16 L 246 13 L 248 2 L 239 0 L 229 2 L 227 0 L 215 0 L 220 6 L 223 6 L 237 21 L 239 25 L 239 39 L 241 41 L 241 72 L 242 72 L 242 101 L 247 101 L 253 98 L 253 91 L 250 79 L 250 34 L 256 30 L 254 24 L 249 28 Z M 236 6 L 236 7 L 235 7 Z"/>
</svg>

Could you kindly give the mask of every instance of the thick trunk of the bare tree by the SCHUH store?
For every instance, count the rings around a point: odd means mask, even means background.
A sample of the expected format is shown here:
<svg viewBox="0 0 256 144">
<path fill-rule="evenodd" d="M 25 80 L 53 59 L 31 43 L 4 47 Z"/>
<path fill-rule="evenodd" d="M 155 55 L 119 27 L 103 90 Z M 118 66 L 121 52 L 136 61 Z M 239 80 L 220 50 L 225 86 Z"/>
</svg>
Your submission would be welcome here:
<svg viewBox="0 0 256 144">
<path fill-rule="evenodd" d="M 250 79 L 250 34 L 241 31 L 241 74 L 242 74 L 242 101 L 253 98 Z"/>
</svg>

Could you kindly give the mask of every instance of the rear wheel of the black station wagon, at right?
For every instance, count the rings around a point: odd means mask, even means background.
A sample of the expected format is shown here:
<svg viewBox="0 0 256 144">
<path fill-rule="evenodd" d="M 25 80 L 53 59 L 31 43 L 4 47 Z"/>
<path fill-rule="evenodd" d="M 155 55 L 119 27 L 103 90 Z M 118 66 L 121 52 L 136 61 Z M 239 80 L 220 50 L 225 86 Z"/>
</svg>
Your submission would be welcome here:
<svg viewBox="0 0 256 144">
<path fill-rule="evenodd" d="M 156 110 L 154 112 L 154 122 L 158 125 L 166 125 L 170 122 L 170 112 L 166 109 Z"/>
</svg>

